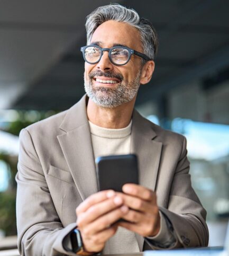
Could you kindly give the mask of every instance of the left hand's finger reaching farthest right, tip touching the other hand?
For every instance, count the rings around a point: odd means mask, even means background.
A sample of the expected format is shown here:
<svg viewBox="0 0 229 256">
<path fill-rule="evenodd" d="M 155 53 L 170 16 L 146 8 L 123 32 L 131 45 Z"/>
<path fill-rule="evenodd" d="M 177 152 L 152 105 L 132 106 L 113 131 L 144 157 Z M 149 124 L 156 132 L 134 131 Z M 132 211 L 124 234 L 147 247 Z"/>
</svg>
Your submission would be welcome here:
<svg viewBox="0 0 229 256">
<path fill-rule="evenodd" d="M 94 222 L 88 224 L 87 227 L 84 228 L 84 231 L 90 235 L 103 231 L 117 222 L 118 219 L 122 218 L 128 210 L 128 207 L 121 206 L 120 208 L 110 211 L 102 217 L 97 218 Z"/>
</svg>

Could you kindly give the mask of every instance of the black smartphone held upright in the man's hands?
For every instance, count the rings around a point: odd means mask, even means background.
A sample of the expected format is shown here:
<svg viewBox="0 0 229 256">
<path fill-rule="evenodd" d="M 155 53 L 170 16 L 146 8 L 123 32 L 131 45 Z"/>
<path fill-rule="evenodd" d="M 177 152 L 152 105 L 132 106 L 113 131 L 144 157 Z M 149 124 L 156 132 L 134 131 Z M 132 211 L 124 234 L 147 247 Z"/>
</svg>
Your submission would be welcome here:
<svg viewBox="0 0 229 256">
<path fill-rule="evenodd" d="M 122 192 L 125 183 L 139 184 L 138 158 L 134 154 L 97 157 L 96 171 L 99 191 Z"/>
</svg>

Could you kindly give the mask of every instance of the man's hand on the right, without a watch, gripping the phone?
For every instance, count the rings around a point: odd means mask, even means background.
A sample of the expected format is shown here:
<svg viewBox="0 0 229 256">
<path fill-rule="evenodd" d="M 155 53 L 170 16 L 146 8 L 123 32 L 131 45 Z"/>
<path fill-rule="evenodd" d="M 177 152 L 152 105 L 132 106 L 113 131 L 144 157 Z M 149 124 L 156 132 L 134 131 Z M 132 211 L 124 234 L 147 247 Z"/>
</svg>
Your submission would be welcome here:
<svg viewBox="0 0 229 256">
<path fill-rule="evenodd" d="M 125 194 L 118 195 L 123 198 L 129 211 L 122 218 L 129 222 L 120 222 L 118 225 L 142 236 L 157 235 L 160 230 L 160 215 L 155 192 L 136 184 L 125 184 L 123 192 Z"/>
</svg>

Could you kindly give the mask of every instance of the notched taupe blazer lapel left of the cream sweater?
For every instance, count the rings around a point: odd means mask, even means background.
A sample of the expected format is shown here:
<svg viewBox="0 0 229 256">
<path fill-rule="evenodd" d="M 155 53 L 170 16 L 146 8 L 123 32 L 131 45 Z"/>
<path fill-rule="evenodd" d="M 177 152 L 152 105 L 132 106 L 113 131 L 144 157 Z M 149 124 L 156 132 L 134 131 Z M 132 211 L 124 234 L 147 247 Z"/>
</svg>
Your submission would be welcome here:
<svg viewBox="0 0 229 256">
<path fill-rule="evenodd" d="M 98 191 L 86 96 L 67 111 L 58 140 L 82 200 Z"/>
</svg>

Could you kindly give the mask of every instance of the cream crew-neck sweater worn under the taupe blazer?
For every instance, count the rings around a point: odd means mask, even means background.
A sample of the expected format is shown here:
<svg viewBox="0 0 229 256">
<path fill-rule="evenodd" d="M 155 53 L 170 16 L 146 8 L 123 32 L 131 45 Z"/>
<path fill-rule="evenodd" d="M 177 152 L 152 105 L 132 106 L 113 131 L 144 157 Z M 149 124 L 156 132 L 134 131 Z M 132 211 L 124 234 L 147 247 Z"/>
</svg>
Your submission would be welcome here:
<svg viewBox="0 0 229 256">
<path fill-rule="evenodd" d="M 95 159 L 98 156 L 130 154 L 132 120 L 127 127 L 122 129 L 107 129 L 96 126 L 90 121 L 89 126 Z M 170 239 L 170 235 L 166 220 L 161 213 L 160 217 L 161 229 L 159 234 L 149 237 L 149 239 L 163 244 Z M 128 244 L 128 246 L 123 246 L 123 244 Z M 139 251 L 135 234 L 125 228 L 118 227 L 116 234 L 106 242 L 103 254 L 134 253 Z"/>
</svg>

